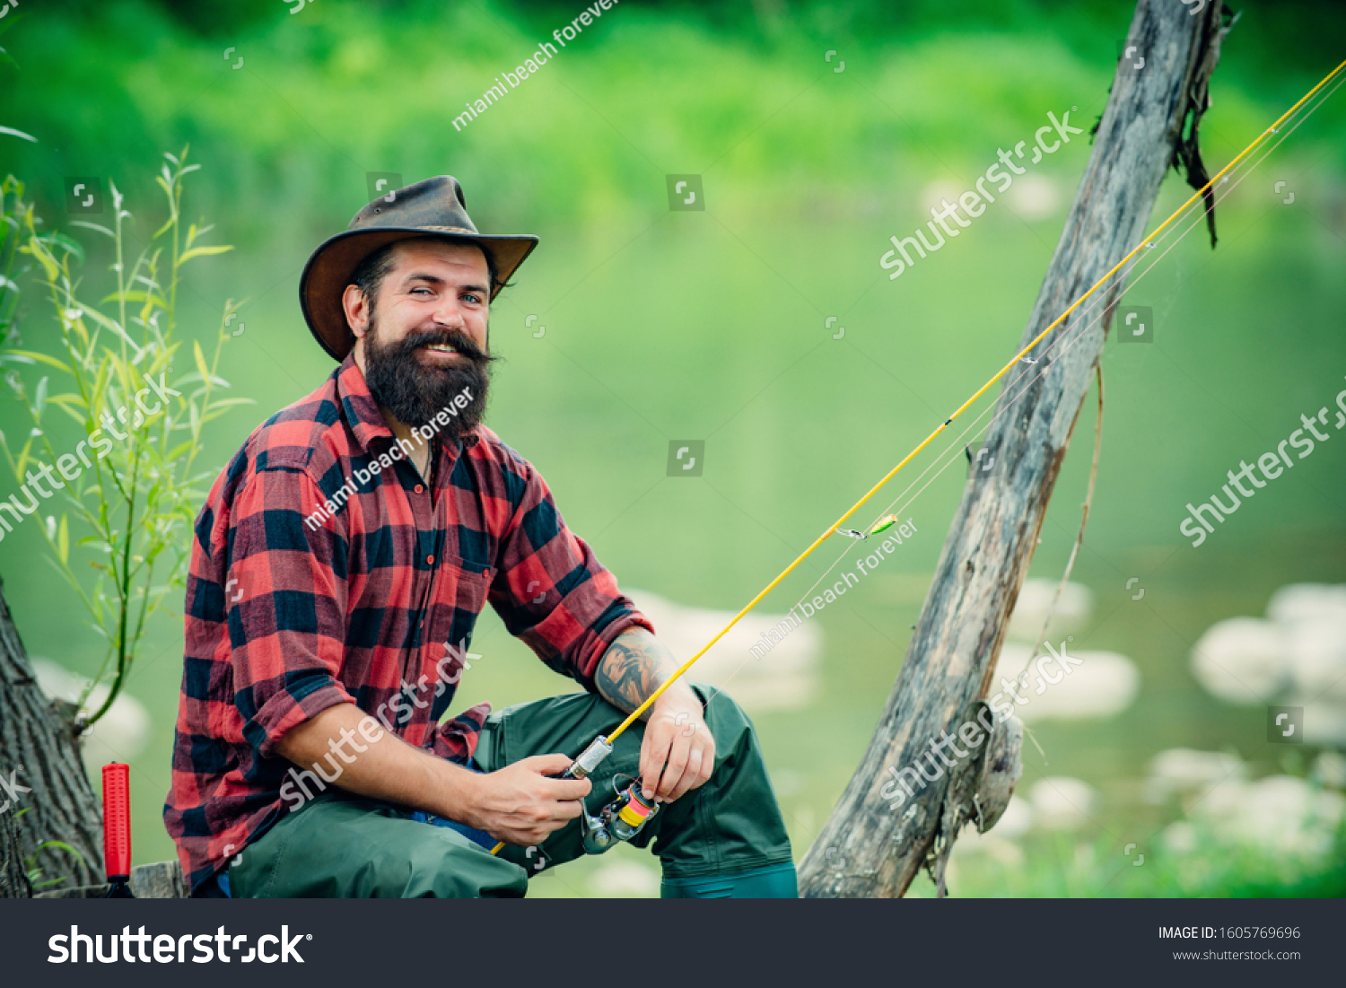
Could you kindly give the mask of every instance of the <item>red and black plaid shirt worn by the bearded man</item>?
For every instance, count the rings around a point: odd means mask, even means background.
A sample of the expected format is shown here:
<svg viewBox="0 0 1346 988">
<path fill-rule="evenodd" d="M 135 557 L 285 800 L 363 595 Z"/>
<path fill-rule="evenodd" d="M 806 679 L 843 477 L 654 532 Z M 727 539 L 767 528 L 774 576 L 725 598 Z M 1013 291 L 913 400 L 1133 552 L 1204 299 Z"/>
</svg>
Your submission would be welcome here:
<svg viewBox="0 0 1346 988">
<path fill-rule="evenodd" d="M 654 630 L 528 460 L 486 427 L 432 442 L 428 489 L 405 458 L 361 483 L 357 470 L 401 451 L 347 357 L 258 427 L 211 487 L 191 549 L 164 805 L 194 891 L 289 809 L 276 742 L 328 707 L 377 712 L 411 744 L 464 763 L 490 704 L 439 719 L 487 600 L 588 691 L 618 634 Z M 319 522 L 328 503 L 341 506 Z"/>
</svg>

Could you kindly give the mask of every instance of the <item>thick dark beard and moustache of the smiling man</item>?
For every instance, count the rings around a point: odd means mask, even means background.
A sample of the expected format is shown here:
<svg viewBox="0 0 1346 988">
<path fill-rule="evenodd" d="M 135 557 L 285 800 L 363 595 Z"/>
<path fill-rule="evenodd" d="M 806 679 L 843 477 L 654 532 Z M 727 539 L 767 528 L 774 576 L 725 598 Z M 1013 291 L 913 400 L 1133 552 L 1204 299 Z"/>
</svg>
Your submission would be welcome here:
<svg viewBox="0 0 1346 988">
<path fill-rule="evenodd" d="M 448 343 L 468 363 L 427 366 L 416 357 L 416 349 L 427 343 Z M 405 425 L 427 425 L 441 411 L 454 411 L 454 398 L 466 394 L 467 407 L 458 415 L 450 415 L 440 432 L 451 439 L 471 432 L 486 415 L 490 365 L 495 359 L 458 330 L 427 330 L 408 334 L 396 343 L 382 343 L 378 322 L 370 314 L 365 337 L 365 384 L 374 401 Z"/>
</svg>

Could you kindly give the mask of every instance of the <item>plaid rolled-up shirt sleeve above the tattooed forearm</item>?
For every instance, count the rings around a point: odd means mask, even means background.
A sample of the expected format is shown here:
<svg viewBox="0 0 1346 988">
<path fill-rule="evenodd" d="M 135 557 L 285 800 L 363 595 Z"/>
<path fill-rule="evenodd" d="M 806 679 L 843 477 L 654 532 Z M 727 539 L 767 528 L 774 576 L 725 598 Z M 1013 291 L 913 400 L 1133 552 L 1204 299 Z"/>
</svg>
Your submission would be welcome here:
<svg viewBox="0 0 1346 988">
<path fill-rule="evenodd" d="M 513 471 L 522 495 L 499 538 L 490 603 L 546 665 L 598 692 L 594 673 L 612 639 L 631 627 L 654 631 L 654 625 L 565 526 L 541 474 L 521 458 Z"/>
</svg>

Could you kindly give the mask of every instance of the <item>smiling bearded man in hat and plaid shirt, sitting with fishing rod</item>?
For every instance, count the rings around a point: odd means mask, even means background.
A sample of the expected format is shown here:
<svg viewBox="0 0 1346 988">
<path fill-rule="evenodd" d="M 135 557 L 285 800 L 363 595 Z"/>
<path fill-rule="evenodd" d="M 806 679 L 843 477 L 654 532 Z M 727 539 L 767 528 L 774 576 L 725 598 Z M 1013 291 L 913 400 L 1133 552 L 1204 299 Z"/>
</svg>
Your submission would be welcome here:
<svg viewBox="0 0 1346 988">
<path fill-rule="evenodd" d="M 673 682 L 587 778 L 556 778 L 676 669 L 482 424 L 490 303 L 537 245 L 482 234 L 456 179 L 400 188 L 314 252 L 300 303 L 341 366 L 268 419 L 195 525 L 164 806 L 198 896 L 518 896 L 586 848 L 629 775 L 664 896 L 794 896 L 756 735 Z M 583 686 L 444 720 L 486 603 Z M 497 841 L 505 847 L 493 853 Z"/>
</svg>

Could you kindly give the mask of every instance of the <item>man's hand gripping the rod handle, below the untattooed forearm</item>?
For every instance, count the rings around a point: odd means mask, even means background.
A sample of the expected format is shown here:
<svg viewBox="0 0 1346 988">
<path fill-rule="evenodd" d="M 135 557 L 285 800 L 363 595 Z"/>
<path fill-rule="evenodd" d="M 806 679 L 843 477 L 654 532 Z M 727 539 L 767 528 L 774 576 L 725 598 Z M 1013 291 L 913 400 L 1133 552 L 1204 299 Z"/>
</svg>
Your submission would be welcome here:
<svg viewBox="0 0 1346 988">
<path fill-rule="evenodd" d="M 569 767 L 565 755 L 534 755 L 478 775 L 466 813 L 470 826 L 506 844 L 541 844 L 580 814 L 588 779 L 557 779 Z"/>
</svg>

